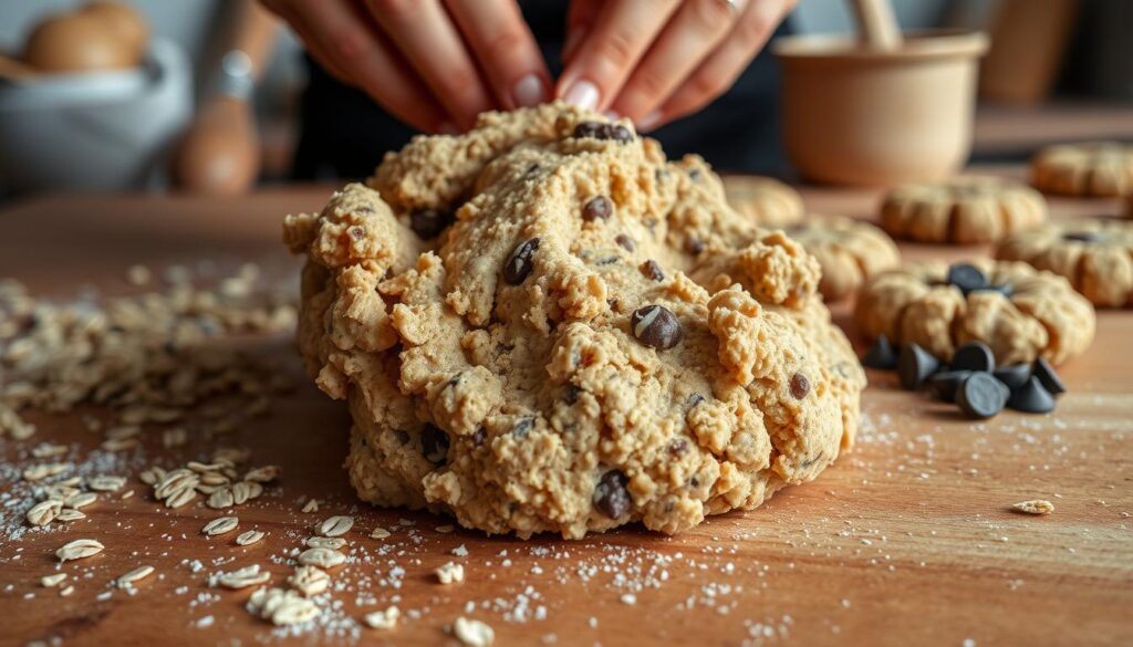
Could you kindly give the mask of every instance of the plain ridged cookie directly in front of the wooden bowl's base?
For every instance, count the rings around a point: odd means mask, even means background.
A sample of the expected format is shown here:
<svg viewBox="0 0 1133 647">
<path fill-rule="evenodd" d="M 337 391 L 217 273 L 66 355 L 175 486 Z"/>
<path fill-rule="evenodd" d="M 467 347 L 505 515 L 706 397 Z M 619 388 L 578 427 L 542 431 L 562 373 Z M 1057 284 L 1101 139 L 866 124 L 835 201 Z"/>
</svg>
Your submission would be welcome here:
<svg viewBox="0 0 1133 647">
<path fill-rule="evenodd" d="M 894 238 L 921 242 L 994 242 L 1046 220 L 1042 195 L 993 177 L 903 185 L 881 203 L 881 228 Z"/>
</svg>

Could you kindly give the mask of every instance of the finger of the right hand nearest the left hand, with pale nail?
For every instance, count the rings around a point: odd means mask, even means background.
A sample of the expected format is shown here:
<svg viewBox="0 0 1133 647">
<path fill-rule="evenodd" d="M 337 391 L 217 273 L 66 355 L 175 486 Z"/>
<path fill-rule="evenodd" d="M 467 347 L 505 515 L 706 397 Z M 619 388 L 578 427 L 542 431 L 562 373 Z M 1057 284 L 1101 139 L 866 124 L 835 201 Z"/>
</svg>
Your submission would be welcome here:
<svg viewBox="0 0 1133 647">
<path fill-rule="evenodd" d="M 680 0 L 606 2 L 559 80 L 569 103 L 605 110 Z"/>
</svg>

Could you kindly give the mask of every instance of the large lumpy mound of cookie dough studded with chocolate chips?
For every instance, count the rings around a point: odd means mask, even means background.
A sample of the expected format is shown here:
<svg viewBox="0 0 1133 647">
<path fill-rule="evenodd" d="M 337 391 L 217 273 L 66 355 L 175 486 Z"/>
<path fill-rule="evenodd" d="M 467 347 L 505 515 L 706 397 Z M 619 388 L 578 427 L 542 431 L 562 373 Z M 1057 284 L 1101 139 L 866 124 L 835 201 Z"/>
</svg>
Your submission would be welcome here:
<svg viewBox="0 0 1133 647">
<path fill-rule="evenodd" d="M 299 347 L 349 402 L 366 501 L 521 537 L 678 533 L 853 439 L 864 375 L 818 264 L 625 124 L 485 113 L 288 216 L 284 240 L 307 256 Z M 675 346 L 646 343 L 674 318 Z"/>
</svg>

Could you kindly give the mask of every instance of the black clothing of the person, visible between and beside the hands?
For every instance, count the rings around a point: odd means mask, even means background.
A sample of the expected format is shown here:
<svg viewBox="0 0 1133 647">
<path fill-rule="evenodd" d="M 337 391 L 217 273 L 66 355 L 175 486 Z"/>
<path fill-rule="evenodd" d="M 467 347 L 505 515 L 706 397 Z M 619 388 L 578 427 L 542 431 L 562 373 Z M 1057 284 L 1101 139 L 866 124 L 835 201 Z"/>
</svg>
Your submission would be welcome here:
<svg viewBox="0 0 1133 647">
<path fill-rule="evenodd" d="M 553 77 L 562 71 L 566 6 L 566 0 L 522 3 Z M 307 62 L 296 179 L 364 178 L 386 151 L 401 148 L 416 134 L 365 93 L 342 85 L 309 57 Z M 782 173 L 777 88 L 778 66 L 765 49 L 726 94 L 649 136 L 661 141 L 670 158 L 699 153 L 718 170 Z"/>
</svg>

